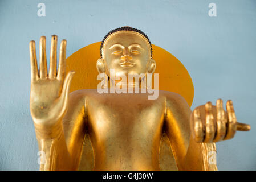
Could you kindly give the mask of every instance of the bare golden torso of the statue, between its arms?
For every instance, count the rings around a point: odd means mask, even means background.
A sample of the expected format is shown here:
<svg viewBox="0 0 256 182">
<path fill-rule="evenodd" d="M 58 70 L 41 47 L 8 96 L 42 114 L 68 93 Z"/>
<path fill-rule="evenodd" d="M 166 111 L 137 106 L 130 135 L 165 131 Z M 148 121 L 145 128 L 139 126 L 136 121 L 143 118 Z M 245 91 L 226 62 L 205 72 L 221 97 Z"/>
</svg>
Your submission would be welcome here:
<svg viewBox="0 0 256 182">
<path fill-rule="evenodd" d="M 157 100 L 148 100 L 148 94 L 99 94 L 96 90 L 84 90 L 82 95 L 95 170 L 160 169 L 164 94 L 160 92 Z"/>
</svg>

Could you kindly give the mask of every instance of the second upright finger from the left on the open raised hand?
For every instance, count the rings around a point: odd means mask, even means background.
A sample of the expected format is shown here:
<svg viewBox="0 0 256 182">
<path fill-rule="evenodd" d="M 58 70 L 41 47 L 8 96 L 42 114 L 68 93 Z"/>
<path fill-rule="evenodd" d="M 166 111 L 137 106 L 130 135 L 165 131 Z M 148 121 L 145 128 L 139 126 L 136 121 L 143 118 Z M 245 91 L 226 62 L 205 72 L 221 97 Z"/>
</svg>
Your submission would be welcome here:
<svg viewBox="0 0 256 182">
<path fill-rule="evenodd" d="M 41 36 L 39 43 L 40 51 L 40 78 L 47 78 L 47 61 L 46 61 L 46 37 Z"/>
</svg>

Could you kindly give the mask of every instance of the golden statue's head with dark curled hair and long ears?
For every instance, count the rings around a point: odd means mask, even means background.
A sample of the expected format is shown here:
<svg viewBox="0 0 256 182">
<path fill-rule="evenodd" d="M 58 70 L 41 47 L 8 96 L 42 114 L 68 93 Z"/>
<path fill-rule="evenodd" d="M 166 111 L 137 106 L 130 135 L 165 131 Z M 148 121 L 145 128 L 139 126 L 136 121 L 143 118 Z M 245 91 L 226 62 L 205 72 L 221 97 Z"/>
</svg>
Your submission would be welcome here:
<svg viewBox="0 0 256 182">
<path fill-rule="evenodd" d="M 108 76 L 110 69 L 115 69 L 115 76 L 128 76 L 128 73 L 153 73 L 156 68 L 148 36 L 132 27 L 108 32 L 101 42 L 100 55 L 97 70 Z"/>
</svg>

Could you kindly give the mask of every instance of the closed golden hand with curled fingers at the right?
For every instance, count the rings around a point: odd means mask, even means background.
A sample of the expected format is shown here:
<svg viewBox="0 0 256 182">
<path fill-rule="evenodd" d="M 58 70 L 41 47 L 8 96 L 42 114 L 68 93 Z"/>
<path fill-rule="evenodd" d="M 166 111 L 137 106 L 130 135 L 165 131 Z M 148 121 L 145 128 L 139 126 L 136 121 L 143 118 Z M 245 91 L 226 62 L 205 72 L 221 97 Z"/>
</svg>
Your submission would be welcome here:
<svg viewBox="0 0 256 182">
<path fill-rule="evenodd" d="M 216 106 L 207 102 L 194 109 L 190 115 L 190 129 L 194 140 L 205 143 L 219 142 L 233 138 L 237 130 L 250 130 L 250 125 L 237 122 L 231 100 L 227 101 L 226 110 L 223 109 L 221 99 L 217 100 Z"/>
</svg>

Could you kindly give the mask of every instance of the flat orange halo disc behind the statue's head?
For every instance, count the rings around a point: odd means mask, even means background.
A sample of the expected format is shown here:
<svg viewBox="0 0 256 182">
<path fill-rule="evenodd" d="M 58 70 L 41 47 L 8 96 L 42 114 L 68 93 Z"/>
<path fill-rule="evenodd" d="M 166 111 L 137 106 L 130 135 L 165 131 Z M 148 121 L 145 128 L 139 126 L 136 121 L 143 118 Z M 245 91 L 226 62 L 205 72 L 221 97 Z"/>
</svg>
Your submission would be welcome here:
<svg viewBox="0 0 256 182">
<path fill-rule="evenodd" d="M 96 89 L 97 80 L 96 61 L 100 58 L 100 44 L 96 42 L 79 49 L 67 58 L 67 72 L 76 73 L 71 82 L 70 92 L 81 89 Z M 192 105 L 194 86 L 192 79 L 184 65 L 171 53 L 152 44 L 153 59 L 156 61 L 156 71 L 159 73 L 159 90 L 166 90 L 180 94 Z"/>
</svg>

